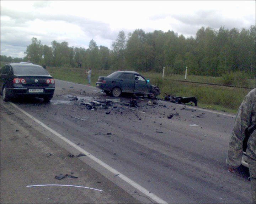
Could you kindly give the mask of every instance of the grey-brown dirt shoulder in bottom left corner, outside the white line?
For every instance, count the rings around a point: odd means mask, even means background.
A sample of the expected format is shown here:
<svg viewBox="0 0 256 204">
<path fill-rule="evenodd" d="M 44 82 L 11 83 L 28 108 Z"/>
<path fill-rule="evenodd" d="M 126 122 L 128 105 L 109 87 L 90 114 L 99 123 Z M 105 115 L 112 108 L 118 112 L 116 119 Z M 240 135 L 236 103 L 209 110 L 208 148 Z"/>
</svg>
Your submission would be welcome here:
<svg viewBox="0 0 256 204">
<path fill-rule="evenodd" d="M 1 203 L 139 202 L 1 105 Z"/>
</svg>

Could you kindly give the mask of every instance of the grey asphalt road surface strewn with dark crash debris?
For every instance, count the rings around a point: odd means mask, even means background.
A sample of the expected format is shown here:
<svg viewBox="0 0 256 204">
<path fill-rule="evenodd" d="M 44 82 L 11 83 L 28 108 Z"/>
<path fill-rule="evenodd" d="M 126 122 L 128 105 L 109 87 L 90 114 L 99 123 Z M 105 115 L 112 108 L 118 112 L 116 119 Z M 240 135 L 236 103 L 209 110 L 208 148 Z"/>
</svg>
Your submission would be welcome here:
<svg viewBox="0 0 256 204">
<path fill-rule="evenodd" d="M 126 106 L 131 96 L 108 109 L 87 109 L 83 102 L 114 99 L 99 91 L 56 80 L 49 103 L 12 103 L 99 159 L 81 160 L 140 202 L 251 202 L 248 170 L 241 166 L 230 173 L 225 165 L 235 115 L 159 100 L 147 106 L 147 98 L 137 98 L 138 107 Z M 54 135 L 52 140 L 74 151 Z"/>
</svg>

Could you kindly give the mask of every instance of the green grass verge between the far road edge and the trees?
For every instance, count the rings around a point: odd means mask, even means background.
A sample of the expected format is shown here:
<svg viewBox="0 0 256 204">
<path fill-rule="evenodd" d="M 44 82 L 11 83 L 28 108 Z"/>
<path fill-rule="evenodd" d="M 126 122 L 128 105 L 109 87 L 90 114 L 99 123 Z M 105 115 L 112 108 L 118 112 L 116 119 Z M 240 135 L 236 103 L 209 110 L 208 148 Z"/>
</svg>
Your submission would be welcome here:
<svg viewBox="0 0 256 204">
<path fill-rule="evenodd" d="M 86 70 L 80 68 L 47 68 L 49 73 L 55 78 L 64 81 L 70 81 L 79 84 L 88 84 Z M 113 70 L 94 70 L 92 69 L 91 85 L 95 86 L 99 76 L 107 76 L 114 72 Z M 185 82 L 173 81 L 181 79 L 181 75 L 172 75 L 162 78 L 161 73 L 141 73 L 145 78 L 150 79 L 150 83 L 158 85 L 161 89 L 160 98 L 166 94 L 197 97 L 198 106 L 202 108 L 213 109 L 217 111 L 226 111 L 236 113 L 241 102 L 244 100 L 249 89 L 240 89 L 234 87 L 210 86 L 203 84 L 192 84 Z M 191 81 L 208 82 L 219 84 L 219 78 L 205 76 L 191 76 Z M 254 85 L 255 87 L 255 85 Z"/>
</svg>

